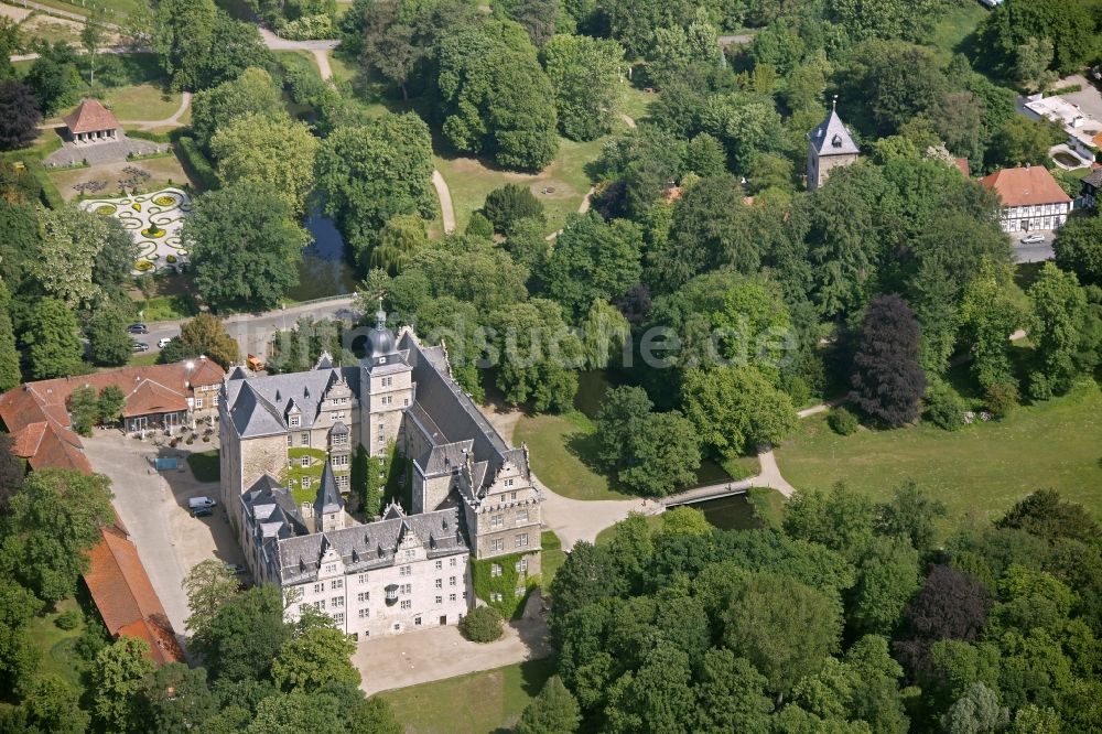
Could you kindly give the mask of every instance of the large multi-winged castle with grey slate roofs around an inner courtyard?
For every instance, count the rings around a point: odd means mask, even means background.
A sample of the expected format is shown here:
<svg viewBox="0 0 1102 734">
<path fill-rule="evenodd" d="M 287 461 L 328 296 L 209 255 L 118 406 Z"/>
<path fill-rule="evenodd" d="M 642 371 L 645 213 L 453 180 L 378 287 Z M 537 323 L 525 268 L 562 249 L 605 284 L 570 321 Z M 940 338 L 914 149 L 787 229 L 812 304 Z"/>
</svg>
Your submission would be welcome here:
<svg viewBox="0 0 1102 734">
<path fill-rule="evenodd" d="M 376 317 L 359 364 L 323 355 L 306 373 L 235 368 L 218 406 L 223 501 L 255 580 L 292 595 L 289 617 L 309 605 L 359 637 L 456 624 L 476 603 L 476 566 L 501 578 L 508 565 L 515 596 L 540 573 L 542 497 L 527 450 L 455 382 L 443 346 Z M 391 446 L 412 507 L 359 522 L 342 496 L 354 457 Z"/>
</svg>

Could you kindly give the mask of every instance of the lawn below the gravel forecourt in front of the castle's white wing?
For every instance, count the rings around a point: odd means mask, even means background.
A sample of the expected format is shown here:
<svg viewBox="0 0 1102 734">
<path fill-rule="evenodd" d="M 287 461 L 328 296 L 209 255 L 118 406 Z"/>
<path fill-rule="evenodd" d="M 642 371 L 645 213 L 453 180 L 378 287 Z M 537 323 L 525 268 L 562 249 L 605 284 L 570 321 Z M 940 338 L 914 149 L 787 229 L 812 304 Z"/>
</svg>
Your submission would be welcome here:
<svg viewBox="0 0 1102 734">
<path fill-rule="evenodd" d="M 408 734 L 506 732 L 554 672 L 554 659 L 528 660 L 495 670 L 379 693 Z"/>
</svg>

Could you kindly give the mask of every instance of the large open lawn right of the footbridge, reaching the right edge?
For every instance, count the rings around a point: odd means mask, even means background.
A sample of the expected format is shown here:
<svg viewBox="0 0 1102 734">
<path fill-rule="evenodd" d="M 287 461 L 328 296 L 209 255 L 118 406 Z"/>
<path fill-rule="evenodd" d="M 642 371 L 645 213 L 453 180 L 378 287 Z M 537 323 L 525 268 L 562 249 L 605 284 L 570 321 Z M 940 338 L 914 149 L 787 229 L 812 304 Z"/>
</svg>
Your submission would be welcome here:
<svg viewBox="0 0 1102 734">
<path fill-rule="evenodd" d="M 921 424 L 840 436 L 815 415 L 777 450 L 781 473 L 798 489 L 845 482 L 880 499 L 914 479 L 948 505 L 946 528 L 969 511 L 997 517 L 1038 488 L 1102 517 L 1100 458 L 1102 392 L 1094 385 L 954 432 Z"/>
</svg>

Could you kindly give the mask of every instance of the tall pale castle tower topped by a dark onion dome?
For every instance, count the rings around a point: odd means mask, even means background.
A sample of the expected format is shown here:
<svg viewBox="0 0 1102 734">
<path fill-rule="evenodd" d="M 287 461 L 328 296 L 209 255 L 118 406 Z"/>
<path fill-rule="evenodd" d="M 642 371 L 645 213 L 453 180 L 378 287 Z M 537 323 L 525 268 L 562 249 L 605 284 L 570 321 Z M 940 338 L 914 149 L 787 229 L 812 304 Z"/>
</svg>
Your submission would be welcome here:
<svg viewBox="0 0 1102 734">
<path fill-rule="evenodd" d="M 367 335 L 367 354 L 359 361 L 359 442 L 372 456 L 398 441 L 402 411 L 413 402 L 413 368 L 398 350 L 395 333 L 379 299 L 375 328 Z"/>
</svg>

